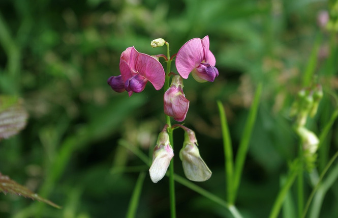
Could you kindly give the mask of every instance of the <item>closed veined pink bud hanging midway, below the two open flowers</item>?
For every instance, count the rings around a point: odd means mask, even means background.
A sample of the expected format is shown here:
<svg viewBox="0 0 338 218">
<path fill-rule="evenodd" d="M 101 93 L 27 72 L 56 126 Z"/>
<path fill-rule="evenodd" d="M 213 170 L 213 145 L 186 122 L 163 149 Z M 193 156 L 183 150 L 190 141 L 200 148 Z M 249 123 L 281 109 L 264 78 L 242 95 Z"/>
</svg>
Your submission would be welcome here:
<svg viewBox="0 0 338 218">
<path fill-rule="evenodd" d="M 164 113 L 182 122 L 186 119 L 189 109 L 189 100 L 183 93 L 183 80 L 175 75 L 171 81 L 170 88 L 164 93 Z"/>
</svg>

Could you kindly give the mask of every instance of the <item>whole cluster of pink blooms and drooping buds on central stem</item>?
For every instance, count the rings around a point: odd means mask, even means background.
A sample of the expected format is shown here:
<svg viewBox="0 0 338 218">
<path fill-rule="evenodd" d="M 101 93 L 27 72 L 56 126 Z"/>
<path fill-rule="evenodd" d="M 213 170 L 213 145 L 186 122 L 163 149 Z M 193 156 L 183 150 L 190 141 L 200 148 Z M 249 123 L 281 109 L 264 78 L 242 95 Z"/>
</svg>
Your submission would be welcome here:
<svg viewBox="0 0 338 218">
<path fill-rule="evenodd" d="M 164 39 L 151 41 L 151 47 L 169 46 Z M 169 53 L 169 47 L 168 47 Z M 169 56 L 169 55 L 168 55 Z M 175 66 L 178 74 L 173 72 L 165 73 L 158 58 L 163 57 L 170 66 L 175 58 Z M 219 75 L 215 67 L 216 59 L 209 50 L 209 37 L 203 39 L 194 38 L 186 42 L 172 57 L 157 55 L 155 57 L 138 52 L 134 47 L 129 47 L 120 56 L 119 69 L 121 74 L 108 78 L 108 85 L 116 92 L 127 91 L 129 96 L 133 93 L 142 92 L 147 82 L 156 89 L 160 90 L 166 83 L 163 97 L 164 113 L 178 122 L 186 119 L 189 110 L 189 100 L 183 93 L 183 79 L 187 79 L 190 74 L 199 83 L 214 81 Z M 171 85 L 169 87 L 169 81 Z M 183 128 L 185 141 L 179 152 L 182 166 L 186 177 L 192 181 L 205 181 L 210 178 L 211 171 L 199 154 L 197 140 L 194 131 L 185 126 L 176 124 Z M 153 150 L 152 165 L 149 169 L 150 178 L 153 182 L 161 180 L 174 156 L 173 148 L 170 145 L 167 132 L 171 126 L 166 125 L 159 134 L 157 144 Z M 172 129 L 170 130 L 172 131 Z"/>
</svg>

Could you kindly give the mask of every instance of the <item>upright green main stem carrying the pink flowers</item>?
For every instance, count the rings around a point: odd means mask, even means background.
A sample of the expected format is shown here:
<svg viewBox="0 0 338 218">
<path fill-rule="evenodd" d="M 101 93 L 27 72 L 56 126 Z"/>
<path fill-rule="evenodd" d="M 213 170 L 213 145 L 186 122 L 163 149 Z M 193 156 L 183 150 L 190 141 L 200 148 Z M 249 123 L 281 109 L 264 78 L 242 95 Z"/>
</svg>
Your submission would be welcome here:
<svg viewBox="0 0 338 218">
<path fill-rule="evenodd" d="M 165 42 L 167 45 L 167 71 L 166 71 L 166 79 L 164 82 L 164 92 L 166 92 L 169 89 L 169 83 L 170 83 L 170 69 L 171 69 L 171 61 L 170 60 L 170 50 L 169 50 L 169 43 Z M 169 134 L 169 141 L 170 145 L 174 147 L 173 142 L 173 130 L 171 129 L 171 121 L 170 117 L 168 115 L 166 116 L 166 123 L 168 125 L 168 134 Z M 171 159 L 170 165 L 169 165 L 169 195 L 170 195 L 170 215 L 171 218 L 176 217 L 176 202 L 175 202 L 175 181 L 174 181 L 174 158 Z"/>
</svg>

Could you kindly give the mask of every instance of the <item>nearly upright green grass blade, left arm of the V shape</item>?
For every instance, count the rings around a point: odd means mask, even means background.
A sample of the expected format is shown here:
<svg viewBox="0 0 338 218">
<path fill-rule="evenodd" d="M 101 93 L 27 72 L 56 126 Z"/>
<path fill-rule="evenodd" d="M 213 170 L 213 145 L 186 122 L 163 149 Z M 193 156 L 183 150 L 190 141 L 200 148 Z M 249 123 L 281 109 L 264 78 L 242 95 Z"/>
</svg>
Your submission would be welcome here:
<svg viewBox="0 0 338 218">
<path fill-rule="evenodd" d="M 226 169 L 226 181 L 227 181 L 227 195 L 229 204 L 234 202 L 234 189 L 233 189 L 233 158 L 232 158 L 232 145 L 231 138 L 227 123 L 227 118 L 225 115 L 224 107 L 221 101 L 217 101 L 217 105 L 220 111 L 220 119 L 222 126 L 222 137 L 223 137 L 223 148 L 224 148 L 224 164 Z"/>
</svg>

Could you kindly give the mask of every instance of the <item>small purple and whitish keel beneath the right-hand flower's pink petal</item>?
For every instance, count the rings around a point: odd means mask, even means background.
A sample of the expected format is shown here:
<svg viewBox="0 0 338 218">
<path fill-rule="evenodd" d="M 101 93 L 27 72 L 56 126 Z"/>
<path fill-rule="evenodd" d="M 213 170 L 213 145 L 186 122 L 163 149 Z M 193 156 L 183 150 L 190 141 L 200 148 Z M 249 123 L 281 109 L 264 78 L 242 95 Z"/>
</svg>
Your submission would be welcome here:
<svg viewBox="0 0 338 218">
<path fill-rule="evenodd" d="M 219 75 L 218 69 L 210 64 L 200 64 L 192 71 L 193 77 L 199 83 L 214 81 Z"/>
</svg>

